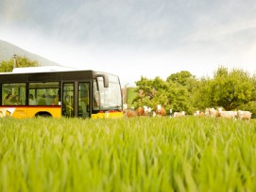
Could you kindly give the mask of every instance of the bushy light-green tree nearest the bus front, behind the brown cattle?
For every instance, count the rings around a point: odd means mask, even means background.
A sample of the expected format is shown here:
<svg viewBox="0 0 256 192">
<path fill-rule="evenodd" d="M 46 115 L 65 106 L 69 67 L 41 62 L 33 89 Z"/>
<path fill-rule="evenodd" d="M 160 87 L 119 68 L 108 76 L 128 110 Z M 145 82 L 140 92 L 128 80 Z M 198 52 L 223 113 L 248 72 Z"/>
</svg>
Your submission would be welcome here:
<svg viewBox="0 0 256 192">
<path fill-rule="evenodd" d="M 174 77 L 174 76 L 173 76 Z M 180 76 L 179 76 L 180 77 Z M 147 105 L 156 109 L 158 104 L 161 104 L 167 111 L 186 111 L 191 113 L 192 104 L 189 101 L 190 92 L 188 87 L 191 87 L 189 78 L 192 75 L 185 75 L 185 80 L 176 81 L 176 79 L 163 81 L 160 77 L 153 80 L 141 78 L 141 81 L 136 82 L 138 96 L 134 99 L 136 107 Z"/>
</svg>

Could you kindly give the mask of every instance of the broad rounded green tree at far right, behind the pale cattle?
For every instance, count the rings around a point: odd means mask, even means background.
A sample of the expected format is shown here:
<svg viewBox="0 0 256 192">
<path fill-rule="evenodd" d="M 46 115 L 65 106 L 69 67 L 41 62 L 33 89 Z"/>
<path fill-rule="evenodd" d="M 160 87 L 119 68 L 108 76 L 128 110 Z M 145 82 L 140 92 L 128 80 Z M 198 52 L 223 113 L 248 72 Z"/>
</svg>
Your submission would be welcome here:
<svg viewBox="0 0 256 192">
<path fill-rule="evenodd" d="M 250 101 L 255 101 L 255 86 L 247 72 L 242 70 L 228 71 L 220 67 L 213 74 L 213 79 L 202 79 L 196 100 L 200 107 L 222 106 L 233 110 Z M 208 106 L 206 106 L 208 104 Z"/>
</svg>

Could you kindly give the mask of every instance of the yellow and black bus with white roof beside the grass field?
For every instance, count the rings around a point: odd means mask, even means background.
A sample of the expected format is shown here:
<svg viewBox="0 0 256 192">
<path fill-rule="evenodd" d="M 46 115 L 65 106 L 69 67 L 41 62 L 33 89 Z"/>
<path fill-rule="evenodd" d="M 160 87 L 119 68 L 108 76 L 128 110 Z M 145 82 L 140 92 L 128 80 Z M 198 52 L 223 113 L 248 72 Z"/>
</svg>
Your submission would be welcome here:
<svg viewBox="0 0 256 192">
<path fill-rule="evenodd" d="M 0 73 L 0 117 L 123 117 L 119 77 L 108 72 L 15 68 Z"/>
</svg>

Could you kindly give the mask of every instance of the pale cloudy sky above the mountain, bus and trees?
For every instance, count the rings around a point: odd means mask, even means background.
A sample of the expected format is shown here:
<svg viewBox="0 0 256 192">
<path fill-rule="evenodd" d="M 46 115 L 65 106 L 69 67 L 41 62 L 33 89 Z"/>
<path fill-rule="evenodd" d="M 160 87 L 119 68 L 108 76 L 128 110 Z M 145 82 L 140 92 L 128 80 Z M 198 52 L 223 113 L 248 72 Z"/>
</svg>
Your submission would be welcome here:
<svg viewBox="0 0 256 192">
<path fill-rule="evenodd" d="M 255 0 L 1 0 L 0 40 L 122 86 L 219 67 L 256 72 Z"/>
</svg>

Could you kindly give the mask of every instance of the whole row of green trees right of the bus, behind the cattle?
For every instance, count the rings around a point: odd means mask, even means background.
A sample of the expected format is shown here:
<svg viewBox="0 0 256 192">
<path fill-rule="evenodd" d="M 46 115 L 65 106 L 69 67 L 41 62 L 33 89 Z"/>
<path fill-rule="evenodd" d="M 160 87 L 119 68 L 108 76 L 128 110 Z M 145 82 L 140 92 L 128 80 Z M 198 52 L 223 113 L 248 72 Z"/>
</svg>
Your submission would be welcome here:
<svg viewBox="0 0 256 192">
<path fill-rule="evenodd" d="M 162 104 L 167 112 L 186 111 L 193 114 L 206 107 L 224 107 L 226 110 L 249 110 L 256 113 L 256 76 L 243 70 L 219 67 L 213 78 L 196 76 L 187 71 L 173 73 L 163 81 L 160 77 L 141 77 L 135 82 L 136 97 L 129 106 Z"/>
</svg>

